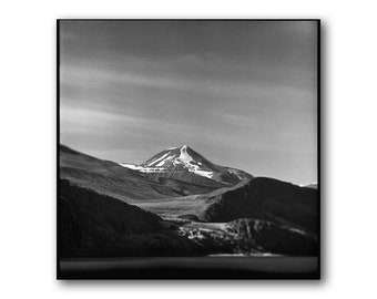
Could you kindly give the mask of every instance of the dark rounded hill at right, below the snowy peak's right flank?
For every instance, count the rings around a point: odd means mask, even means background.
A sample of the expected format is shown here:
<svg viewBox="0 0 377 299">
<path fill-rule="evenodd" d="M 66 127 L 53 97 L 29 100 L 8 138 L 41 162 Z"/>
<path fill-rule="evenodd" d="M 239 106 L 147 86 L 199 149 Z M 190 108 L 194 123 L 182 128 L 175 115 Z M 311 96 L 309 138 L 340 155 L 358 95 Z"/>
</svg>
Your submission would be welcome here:
<svg viewBox="0 0 377 299">
<path fill-rule="evenodd" d="M 257 218 L 317 233 L 317 190 L 273 178 L 256 177 L 225 192 L 200 197 L 208 206 L 198 217 L 211 221 Z"/>
</svg>

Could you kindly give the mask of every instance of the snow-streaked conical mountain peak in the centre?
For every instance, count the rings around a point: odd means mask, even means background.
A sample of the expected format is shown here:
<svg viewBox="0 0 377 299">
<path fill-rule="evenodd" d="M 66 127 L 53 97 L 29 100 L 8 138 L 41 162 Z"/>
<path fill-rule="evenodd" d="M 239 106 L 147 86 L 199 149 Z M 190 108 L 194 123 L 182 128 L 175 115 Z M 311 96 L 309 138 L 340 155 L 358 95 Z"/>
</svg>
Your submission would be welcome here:
<svg viewBox="0 0 377 299">
<path fill-rule="evenodd" d="M 253 177 L 246 172 L 216 165 L 187 145 L 164 150 L 141 165 L 120 165 L 144 173 L 154 181 L 169 177 L 215 188 L 235 185 Z"/>
</svg>

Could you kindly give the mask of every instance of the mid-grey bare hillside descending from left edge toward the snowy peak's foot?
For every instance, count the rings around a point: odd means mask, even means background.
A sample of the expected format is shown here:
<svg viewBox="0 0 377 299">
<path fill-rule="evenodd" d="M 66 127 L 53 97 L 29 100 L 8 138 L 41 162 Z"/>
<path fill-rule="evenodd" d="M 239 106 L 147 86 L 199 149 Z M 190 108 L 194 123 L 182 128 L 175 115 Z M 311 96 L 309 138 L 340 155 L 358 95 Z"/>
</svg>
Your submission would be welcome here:
<svg viewBox="0 0 377 299">
<path fill-rule="evenodd" d="M 60 178 L 125 202 L 205 194 L 223 186 L 212 179 L 207 184 L 195 184 L 195 178 L 182 182 L 176 178 L 151 177 L 64 145 L 60 145 Z"/>
</svg>

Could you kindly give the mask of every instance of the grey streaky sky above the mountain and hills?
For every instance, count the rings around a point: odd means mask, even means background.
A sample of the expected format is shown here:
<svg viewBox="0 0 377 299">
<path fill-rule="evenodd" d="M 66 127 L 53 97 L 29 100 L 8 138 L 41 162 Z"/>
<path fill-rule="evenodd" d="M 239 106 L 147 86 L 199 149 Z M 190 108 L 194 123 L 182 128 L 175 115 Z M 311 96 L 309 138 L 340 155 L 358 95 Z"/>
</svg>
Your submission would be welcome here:
<svg viewBox="0 0 377 299">
<path fill-rule="evenodd" d="M 316 22 L 61 21 L 59 70 L 61 144 L 317 182 Z"/>
</svg>

